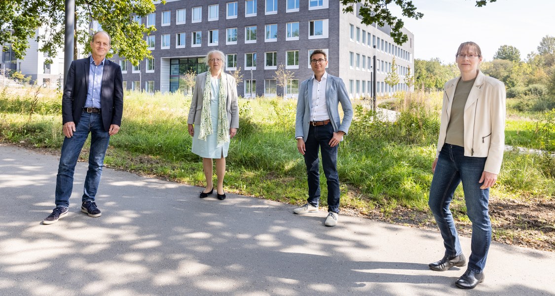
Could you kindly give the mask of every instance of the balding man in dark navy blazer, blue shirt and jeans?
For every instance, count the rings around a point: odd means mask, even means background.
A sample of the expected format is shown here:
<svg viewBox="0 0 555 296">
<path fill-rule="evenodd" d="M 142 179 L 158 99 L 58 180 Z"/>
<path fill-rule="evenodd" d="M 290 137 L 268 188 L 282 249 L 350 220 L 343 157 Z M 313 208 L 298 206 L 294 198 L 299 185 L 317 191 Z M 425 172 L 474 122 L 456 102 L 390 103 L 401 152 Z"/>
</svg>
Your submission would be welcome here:
<svg viewBox="0 0 555 296">
<path fill-rule="evenodd" d="M 104 155 L 110 136 L 117 134 L 122 123 L 122 69 L 108 61 L 110 36 L 97 32 L 90 42 L 91 55 L 73 61 L 64 85 L 62 121 L 64 143 L 56 177 L 56 208 L 43 224 L 56 223 L 68 214 L 73 191 L 73 174 L 83 144 L 89 133 L 89 168 L 83 190 L 81 212 L 99 217 L 95 203 Z"/>
</svg>

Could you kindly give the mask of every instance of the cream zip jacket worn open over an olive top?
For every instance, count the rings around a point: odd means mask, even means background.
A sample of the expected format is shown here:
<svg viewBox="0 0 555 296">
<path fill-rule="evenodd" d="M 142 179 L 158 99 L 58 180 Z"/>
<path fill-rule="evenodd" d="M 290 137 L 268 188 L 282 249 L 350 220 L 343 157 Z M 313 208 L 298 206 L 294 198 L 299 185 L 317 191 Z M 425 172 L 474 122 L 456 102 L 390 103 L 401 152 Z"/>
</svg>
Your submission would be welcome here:
<svg viewBox="0 0 555 296">
<path fill-rule="evenodd" d="M 447 124 L 457 82 L 453 78 L 445 84 L 441 109 L 440 137 L 437 142 L 436 158 L 445 143 Z M 484 170 L 498 174 L 503 160 L 505 144 L 505 86 L 495 78 L 478 71 L 476 81 L 468 94 L 464 115 L 465 156 L 487 157 Z"/>
</svg>

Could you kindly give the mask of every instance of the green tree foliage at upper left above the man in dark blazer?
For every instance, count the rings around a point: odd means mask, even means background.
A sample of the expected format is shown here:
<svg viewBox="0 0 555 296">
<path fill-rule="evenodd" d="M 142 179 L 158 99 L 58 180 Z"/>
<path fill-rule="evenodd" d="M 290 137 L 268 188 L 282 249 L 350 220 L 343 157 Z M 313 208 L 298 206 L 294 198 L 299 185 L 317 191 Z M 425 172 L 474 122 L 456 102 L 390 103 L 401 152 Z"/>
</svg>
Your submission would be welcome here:
<svg viewBox="0 0 555 296">
<path fill-rule="evenodd" d="M 163 2 L 164 3 L 164 2 Z M 12 44 L 17 58 L 25 56 L 28 39 L 36 38 L 41 44 L 39 51 L 56 56 L 63 48 L 65 32 L 64 0 L 11 0 L 0 1 L 0 43 Z M 97 21 L 112 37 L 112 51 L 137 65 L 150 55 L 144 34 L 154 31 L 145 24 L 132 20 L 132 15 L 144 17 L 155 11 L 152 0 L 75 0 L 78 23 L 76 40 L 85 44 L 89 52 L 90 23 Z M 35 36 L 37 28 L 45 32 Z"/>
</svg>

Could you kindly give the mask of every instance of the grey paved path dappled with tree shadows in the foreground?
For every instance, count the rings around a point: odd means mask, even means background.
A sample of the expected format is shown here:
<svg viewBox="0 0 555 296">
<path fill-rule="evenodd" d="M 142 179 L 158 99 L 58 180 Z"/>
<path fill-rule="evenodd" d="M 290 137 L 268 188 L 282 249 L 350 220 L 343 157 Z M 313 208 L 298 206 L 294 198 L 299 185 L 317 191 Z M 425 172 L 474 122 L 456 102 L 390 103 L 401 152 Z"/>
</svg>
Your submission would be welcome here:
<svg viewBox="0 0 555 296">
<path fill-rule="evenodd" d="M 0 295 L 555 295 L 555 253 L 493 243 L 486 280 L 455 287 L 465 269 L 433 272 L 440 234 L 105 169 L 102 217 L 72 205 L 58 223 L 58 157 L 0 144 Z M 199 164 L 200 165 L 200 164 Z M 470 255 L 470 239 L 462 238 Z"/>
</svg>

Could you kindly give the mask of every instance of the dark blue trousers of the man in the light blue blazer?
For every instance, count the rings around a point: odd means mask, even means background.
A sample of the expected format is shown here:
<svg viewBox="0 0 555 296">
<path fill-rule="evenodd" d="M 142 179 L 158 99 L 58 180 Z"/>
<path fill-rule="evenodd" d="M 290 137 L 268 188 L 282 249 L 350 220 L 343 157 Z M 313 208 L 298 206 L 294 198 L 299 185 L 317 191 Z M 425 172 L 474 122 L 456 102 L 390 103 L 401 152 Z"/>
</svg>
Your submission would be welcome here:
<svg viewBox="0 0 555 296">
<path fill-rule="evenodd" d="M 339 213 L 339 174 L 337 173 L 337 146 L 330 147 L 334 136 L 331 123 L 325 126 L 311 126 L 305 142 L 305 164 L 309 183 L 307 202 L 317 206 L 320 202 L 320 168 L 318 150 L 322 153 L 322 168 L 327 179 L 327 210 Z"/>
</svg>

